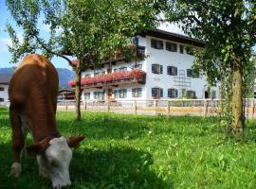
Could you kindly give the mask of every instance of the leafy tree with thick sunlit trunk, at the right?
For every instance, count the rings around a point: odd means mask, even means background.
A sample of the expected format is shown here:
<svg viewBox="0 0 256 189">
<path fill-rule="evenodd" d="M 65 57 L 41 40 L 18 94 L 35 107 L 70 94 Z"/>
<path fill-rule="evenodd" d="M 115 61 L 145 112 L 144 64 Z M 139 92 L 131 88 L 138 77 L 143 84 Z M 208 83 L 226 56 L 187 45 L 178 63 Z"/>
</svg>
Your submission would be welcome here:
<svg viewBox="0 0 256 189">
<path fill-rule="evenodd" d="M 243 88 L 250 72 L 251 48 L 256 43 L 256 6 L 252 0 L 170 0 L 165 4 L 167 21 L 206 42 L 195 54 L 196 67 L 211 83 L 221 77 L 226 99 L 230 97 L 232 129 L 243 139 Z M 227 97 L 228 96 L 228 97 Z"/>
</svg>

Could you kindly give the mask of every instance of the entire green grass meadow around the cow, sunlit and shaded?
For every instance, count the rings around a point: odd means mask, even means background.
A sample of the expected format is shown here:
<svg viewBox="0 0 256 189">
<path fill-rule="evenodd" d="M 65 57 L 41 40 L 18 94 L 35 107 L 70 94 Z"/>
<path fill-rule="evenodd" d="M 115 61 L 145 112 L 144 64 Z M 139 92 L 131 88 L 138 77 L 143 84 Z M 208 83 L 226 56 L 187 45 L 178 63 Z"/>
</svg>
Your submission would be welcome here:
<svg viewBox="0 0 256 189">
<path fill-rule="evenodd" d="M 256 188 L 256 122 L 247 141 L 225 137 L 216 118 L 58 112 L 63 135 L 85 135 L 70 164 L 72 188 Z M 9 113 L 0 109 L 0 188 L 50 188 L 34 158 L 20 178 L 12 160 Z"/>
</svg>

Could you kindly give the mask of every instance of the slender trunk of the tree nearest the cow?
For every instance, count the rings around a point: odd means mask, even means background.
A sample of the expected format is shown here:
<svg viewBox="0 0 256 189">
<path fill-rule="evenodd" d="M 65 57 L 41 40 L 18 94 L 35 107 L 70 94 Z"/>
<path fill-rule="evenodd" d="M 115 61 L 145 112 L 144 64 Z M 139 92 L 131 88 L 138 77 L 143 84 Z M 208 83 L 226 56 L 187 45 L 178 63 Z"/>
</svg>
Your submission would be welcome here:
<svg viewBox="0 0 256 189">
<path fill-rule="evenodd" d="M 77 61 L 78 64 L 76 65 L 76 120 L 81 121 L 81 63 L 80 61 Z"/>
</svg>

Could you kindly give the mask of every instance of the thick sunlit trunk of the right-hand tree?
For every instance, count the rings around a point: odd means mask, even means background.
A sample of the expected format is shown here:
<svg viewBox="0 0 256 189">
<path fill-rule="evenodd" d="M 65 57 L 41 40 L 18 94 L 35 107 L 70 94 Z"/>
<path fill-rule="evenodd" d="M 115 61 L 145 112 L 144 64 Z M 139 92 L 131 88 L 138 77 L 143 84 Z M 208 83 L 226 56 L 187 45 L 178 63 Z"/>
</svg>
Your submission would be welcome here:
<svg viewBox="0 0 256 189">
<path fill-rule="evenodd" d="M 243 77 L 241 60 L 234 60 L 232 66 L 232 116 L 237 140 L 243 140 Z"/>
</svg>

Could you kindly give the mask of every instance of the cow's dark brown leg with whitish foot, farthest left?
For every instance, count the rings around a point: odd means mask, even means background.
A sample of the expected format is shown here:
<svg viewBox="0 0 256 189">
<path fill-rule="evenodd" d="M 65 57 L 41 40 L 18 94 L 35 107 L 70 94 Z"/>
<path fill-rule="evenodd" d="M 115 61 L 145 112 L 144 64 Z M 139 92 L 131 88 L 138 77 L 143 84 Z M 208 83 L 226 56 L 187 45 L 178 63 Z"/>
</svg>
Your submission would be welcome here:
<svg viewBox="0 0 256 189">
<path fill-rule="evenodd" d="M 22 172 L 21 152 L 25 144 L 25 138 L 22 131 L 22 121 L 15 109 L 9 109 L 9 117 L 12 129 L 12 149 L 14 155 L 14 162 L 10 168 L 10 175 L 19 177 Z"/>
</svg>

